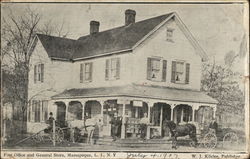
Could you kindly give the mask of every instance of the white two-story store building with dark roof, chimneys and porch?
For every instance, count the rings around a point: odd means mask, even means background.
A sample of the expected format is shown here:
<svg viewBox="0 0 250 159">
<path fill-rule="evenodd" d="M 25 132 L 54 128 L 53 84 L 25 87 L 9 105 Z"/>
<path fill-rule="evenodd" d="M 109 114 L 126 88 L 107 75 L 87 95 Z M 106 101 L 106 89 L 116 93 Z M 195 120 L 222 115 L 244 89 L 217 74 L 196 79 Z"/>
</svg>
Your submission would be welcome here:
<svg viewBox="0 0 250 159">
<path fill-rule="evenodd" d="M 122 117 L 121 138 L 136 136 L 147 113 L 150 132 L 162 134 L 165 119 L 204 123 L 204 110 L 217 101 L 200 91 L 207 55 L 177 13 L 125 24 L 77 40 L 37 34 L 31 47 L 28 132 L 45 127 L 48 113 L 58 121 L 100 116 L 101 136 L 111 135 L 110 119 Z M 167 135 L 167 134 L 165 134 Z M 148 133 L 148 138 L 150 138 Z"/>
</svg>

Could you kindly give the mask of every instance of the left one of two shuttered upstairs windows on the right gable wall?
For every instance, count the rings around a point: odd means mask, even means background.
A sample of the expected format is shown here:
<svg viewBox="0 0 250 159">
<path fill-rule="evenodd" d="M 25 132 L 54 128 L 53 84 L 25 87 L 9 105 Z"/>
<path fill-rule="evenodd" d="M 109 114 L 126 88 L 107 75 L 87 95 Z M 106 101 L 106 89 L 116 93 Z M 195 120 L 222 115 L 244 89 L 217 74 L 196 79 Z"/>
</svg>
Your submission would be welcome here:
<svg viewBox="0 0 250 159">
<path fill-rule="evenodd" d="M 162 58 L 148 58 L 147 79 L 152 81 L 166 81 L 167 61 Z"/>
</svg>

